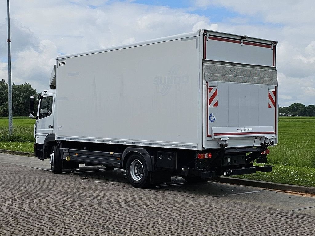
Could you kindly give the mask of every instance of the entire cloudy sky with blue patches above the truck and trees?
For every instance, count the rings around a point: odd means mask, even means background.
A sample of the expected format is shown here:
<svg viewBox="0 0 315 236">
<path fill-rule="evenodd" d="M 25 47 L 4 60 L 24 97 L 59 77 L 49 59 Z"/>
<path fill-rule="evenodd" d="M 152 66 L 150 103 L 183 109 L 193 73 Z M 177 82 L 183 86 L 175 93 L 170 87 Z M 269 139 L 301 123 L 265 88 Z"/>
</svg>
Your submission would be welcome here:
<svg viewBox="0 0 315 236">
<path fill-rule="evenodd" d="M 12 82 L 48 88 L 55 58 L 208 29 L 278 41 L 278 104 L 315 104 L 313 0 L 10 0 Z M 8 81 L 7 1 L 0 79 Z"/>
</svg>

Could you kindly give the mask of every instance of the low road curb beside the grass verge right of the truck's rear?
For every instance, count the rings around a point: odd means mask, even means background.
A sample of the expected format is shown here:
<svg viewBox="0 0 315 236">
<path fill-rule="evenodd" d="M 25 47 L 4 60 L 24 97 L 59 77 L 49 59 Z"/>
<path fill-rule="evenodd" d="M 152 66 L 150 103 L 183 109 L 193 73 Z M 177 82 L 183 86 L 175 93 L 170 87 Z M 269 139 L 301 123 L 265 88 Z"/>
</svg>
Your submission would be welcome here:
<svg viewBox="0 0 315 236">
<path fill-rule="evenodd" d="M 257 180 L 248 180 L 248 179 L 239 179 L 239 178 L 232 178 L 232 177 L 215 177 L 214 180 L 220 183 L 231 183 L 231 184 L 253 186 L 253 187 L 259 187 L 259 188 L 269 188 L 269 189 L 275 189 L 275 190 L 281 190 L 281 191 L 315 194 L 315 188 L 306 187 L 306 186 L 290 185 L 290 184 L 284 184 L 284 183 L 273 183 L 273 182 L 257 181 Z"/>
</svg>

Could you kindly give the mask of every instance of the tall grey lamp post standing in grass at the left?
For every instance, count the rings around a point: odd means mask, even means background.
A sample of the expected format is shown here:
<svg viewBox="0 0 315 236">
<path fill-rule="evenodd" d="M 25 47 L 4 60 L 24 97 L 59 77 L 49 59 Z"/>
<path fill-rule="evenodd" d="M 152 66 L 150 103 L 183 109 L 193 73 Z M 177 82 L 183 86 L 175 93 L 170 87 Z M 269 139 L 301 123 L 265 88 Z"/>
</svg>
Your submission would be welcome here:
<svg viewBox="0 0 315 236">
<path fill-rule="evenodd" d="M 9 0 L 8 0 L 8 91 L 9 91 L 9 135 L 13 132 L 12 121 L 12 81 L 11 81 L 11 38 L 10 38 L 10 12 L 9 12 Z"/>
</svg>

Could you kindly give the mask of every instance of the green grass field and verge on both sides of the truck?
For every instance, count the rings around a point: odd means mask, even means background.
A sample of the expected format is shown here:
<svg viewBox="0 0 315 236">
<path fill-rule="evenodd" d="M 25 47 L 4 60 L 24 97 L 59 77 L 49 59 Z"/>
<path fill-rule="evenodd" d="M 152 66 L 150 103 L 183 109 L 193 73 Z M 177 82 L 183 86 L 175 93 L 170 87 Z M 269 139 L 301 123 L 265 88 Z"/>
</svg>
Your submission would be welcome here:
<svg viewBox="0 0 315 236">
<path fill-rule="evenodd" d="M 0 118 L 0 149 L 33 152 L 34 123 L 14 118 L 14 134 L 8 138 L 8 118 Z M 279 143 L 268 155 L 272 172 L 235 177 L 315 187 L 315 117 L 280 117 L 278 134 Z"/>
</svg>

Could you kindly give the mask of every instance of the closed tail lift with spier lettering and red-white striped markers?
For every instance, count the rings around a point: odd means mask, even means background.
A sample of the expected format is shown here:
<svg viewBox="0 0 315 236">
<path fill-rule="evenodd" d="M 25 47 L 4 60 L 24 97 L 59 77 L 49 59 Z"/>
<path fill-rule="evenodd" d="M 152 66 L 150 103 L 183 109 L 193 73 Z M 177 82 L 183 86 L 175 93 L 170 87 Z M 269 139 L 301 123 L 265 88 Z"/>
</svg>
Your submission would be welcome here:
<svg viewBox="0 0 315 236">
<path fill-rule="evenodd" d="M 277 74 L 273 67 L 204 62 L 204 148 L 277 142 Z"/>
</svg>

